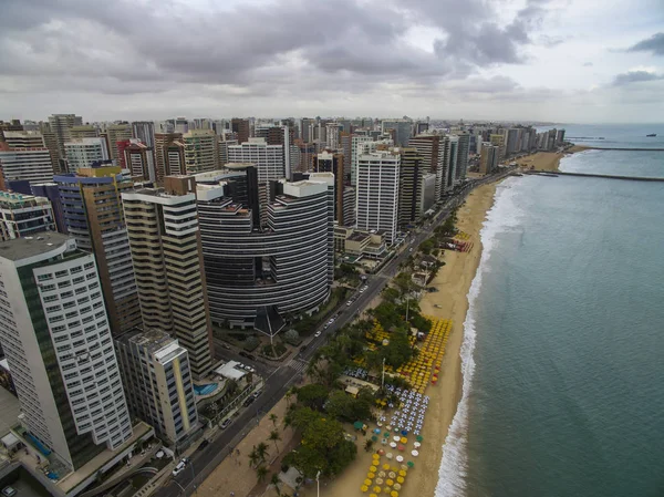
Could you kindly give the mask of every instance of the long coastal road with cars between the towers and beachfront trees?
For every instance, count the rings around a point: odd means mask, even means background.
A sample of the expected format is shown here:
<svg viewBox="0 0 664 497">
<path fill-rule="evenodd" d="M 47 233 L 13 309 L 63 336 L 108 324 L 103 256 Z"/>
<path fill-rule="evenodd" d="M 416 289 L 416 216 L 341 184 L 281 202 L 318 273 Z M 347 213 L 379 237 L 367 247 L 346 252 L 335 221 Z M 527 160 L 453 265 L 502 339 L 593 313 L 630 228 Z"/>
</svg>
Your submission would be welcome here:
<svg viewBox="0 0 664 497">
<path fill-rule="evenodd" d="M 400 265 L 411 255 L 409 248 L 413 248 L 413 251 L 415 251 L 419 244 L 430 236 L 434 228 L 443 222 L 456 206 L 464 201 L 473 188 L 485 183 L 495 182 L 500 176 L 492 175 L 483 179 L 467 182 L 463 188 L 455 191 L 455 194 L 444 204 L 436 217 L 433 220 L 429 220 L 427 228 L 414 231 L 407 238 L 404 248 L 398 255 L 383 266 L 376 275 L 369 276 L 365 283 L 369 288 L 363 293 L 357 292 L 357 298 L 351 306 L 346 306 L 345 301 L 341 302 L 340 307 L 336 309 L 336 312 L 339 313 L 336 320 L 326 330 L 321 328 L 321 335 L 313 336 L 309 341 L 308 346 L 284 365 L 268 371 L 269 366 L 266 366 L 266 364 L 257 361 L 249 361 L 231 351 L 222 349 L 219 353 L 220 356 L 238 360 L 246 364 L 250 364 L 259 372 L 269 373 L 266 377 L 263 392 L 253 404 L 242 411 L 239 416 L 234 420 L 232 424 L 226 428 L 226 431 L 220 432 L 215 438 L 210 439 L 207 447 L 191 454 L 190 463 L 185 470 L 177 477 L 169 479 L 166 486 L 159 488 L 155 493 L 155 496 L 178 497 L 180 495 L 188 496 L 194 493 L 195 485 L 198 485 L 200 480 L 205 479 L 246 436 L 246 434 L 258 424 L 261 415 L 270 411 L 277 402 L 286 395 L 286 392 L 293 383 L 302 377 L 315 350 L 324 344 L 329 336 L 351 323 L 355 319 L 355 314 L 363 311 L 366 306 L 383 291 L 385 284 L 387 284 L 387 282 L 398 272 Z M 246 458 L 247 455 L 242 454 L 240 457 Z M 247 460 L 245 460 L 245 463 L 247 463 Z M 228 488 L 228 493 L 230 491 L 232 491 L 232 488 Z"/>
</svg>

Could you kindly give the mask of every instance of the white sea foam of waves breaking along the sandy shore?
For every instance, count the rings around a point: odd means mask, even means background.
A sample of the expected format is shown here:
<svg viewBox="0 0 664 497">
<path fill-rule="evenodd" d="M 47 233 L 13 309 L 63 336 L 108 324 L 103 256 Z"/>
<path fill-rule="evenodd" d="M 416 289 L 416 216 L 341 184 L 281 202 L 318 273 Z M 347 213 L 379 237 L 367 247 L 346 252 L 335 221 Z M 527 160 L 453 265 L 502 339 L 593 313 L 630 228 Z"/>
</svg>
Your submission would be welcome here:
<svg viewBox="0 0 664 497">
<path fill-rule="evenodd" d="M 477 339 L 475 327 L 476 300 L 481 289 L 483 275 L 490 271 L 491 251 L 497 235 L 519 229 L 520 218 L 525 215 L 525 210 L 516 203 L 517 190 L 529 179 L 508 178 L 498 186 L 494 206 L 487 213 L 487 219 L 480 230 L 483 252 L 477 273 L 468 290 L 468 313 L 464 322 L 464 341 L 460 350 L 464 377 L 463 393 L 443 447 L 436 497 L 458 497 L 465 494 L 468 470 L 468 453 L 466 449 L 468 442 L 468 397 L 475 374 L 474 351 Z"/>
</svg>

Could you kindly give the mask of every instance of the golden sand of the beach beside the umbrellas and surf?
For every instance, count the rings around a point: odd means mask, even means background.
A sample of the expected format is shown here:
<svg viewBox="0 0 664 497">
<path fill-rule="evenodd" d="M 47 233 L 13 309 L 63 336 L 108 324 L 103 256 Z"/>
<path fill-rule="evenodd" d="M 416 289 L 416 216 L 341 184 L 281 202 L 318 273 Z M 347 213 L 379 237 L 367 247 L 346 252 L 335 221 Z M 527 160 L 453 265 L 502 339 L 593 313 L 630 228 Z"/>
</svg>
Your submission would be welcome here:
<svg viewBox="0 0 664 497">
<path fill-rule="evenodd" d="M 468 290 L 479 265 L 481 245 L 479 230 L 487 210 L 494 203 L 496 185 L 485 185 L 474 190 L 458 211 L 457 227 L 470 235 L 475 246 L 470 252 L 446 251 L 445 266 L 430 286 L 438 292 L 426 293 L 421 301 L 425 314 L 453 320 L 453 329 L 442 364 L 442 377 L 437 385 L 429 385 L 430 396 L 422 435 L 424 444 L 416 467 L 409 472 L 401 497 L 433 496 L 438 482 L 438 468 L 443 456 L 443 444 L 461 395 L 460 348 L 464 321 L 468 310 Z M 439 307 L 436 307 L 439 306 Z M 325 497 L 362 496 L 360 486 L 370 466 L 371 453 L 360 448 L 357 459 L 340 477 L 321 486 Z"/>
</svg>

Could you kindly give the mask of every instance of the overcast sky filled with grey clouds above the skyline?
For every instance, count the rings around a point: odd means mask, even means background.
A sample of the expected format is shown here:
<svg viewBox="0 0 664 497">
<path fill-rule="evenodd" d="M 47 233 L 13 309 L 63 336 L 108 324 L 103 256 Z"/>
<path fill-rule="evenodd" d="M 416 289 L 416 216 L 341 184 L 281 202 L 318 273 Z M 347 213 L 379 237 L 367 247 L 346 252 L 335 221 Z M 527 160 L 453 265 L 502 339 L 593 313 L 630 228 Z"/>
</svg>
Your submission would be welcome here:
<svg viewBox="0 0 664 497">
<path fill-rule="evenodd" d="M 664 0 L 1 0 L 0 118 L 664 121 Z"/>
</svg>

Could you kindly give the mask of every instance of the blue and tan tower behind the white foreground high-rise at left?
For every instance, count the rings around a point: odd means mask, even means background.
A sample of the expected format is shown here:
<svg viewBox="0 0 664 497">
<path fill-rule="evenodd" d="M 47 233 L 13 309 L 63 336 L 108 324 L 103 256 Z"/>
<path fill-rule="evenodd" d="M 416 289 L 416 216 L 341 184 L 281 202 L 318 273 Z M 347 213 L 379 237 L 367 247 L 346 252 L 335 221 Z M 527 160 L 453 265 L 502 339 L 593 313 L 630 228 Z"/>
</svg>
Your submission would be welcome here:
<svg viewBox="0 0 664 497">
<path fill-rule="evenodd" d="M 141 307 L 124 222 L 121 194 L 134 187 L 120 167 L 84 167 L 58 175 L 68 231 L 77 246 L 94 253 L 111 331 L 141 325 Z"/>
</svg>

